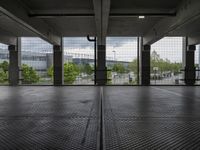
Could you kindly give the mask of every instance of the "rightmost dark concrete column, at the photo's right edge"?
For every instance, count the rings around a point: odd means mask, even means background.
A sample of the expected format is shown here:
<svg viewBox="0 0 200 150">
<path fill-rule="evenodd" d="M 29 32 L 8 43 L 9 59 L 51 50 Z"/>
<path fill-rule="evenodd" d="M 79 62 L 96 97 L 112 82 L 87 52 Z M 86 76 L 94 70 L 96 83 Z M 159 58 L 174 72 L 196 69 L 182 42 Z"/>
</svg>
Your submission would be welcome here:
<svg viewBox="0 0 200 150">
<path fill-rule="evenodd" d="M 196 82 L 196 68 L 195 68 L 195 45 L 187 45 L 185 48 L 185 84 L 186 85 L 194 85 Z"/>
</svg>

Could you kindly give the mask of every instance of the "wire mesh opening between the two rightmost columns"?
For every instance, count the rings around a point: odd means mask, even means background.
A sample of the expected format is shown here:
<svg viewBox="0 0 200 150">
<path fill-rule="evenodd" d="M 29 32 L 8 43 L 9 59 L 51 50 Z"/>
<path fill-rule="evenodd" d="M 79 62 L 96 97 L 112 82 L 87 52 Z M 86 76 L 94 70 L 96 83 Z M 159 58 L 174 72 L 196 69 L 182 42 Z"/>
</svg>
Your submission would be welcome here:
<svg viewBox="0 0 200 150">
<path fill-rule="evenodd" d="M 183 39 L 164 37 L 151 46 L 151 85 L 180 85 L 183 82 Z"/>
</svg>

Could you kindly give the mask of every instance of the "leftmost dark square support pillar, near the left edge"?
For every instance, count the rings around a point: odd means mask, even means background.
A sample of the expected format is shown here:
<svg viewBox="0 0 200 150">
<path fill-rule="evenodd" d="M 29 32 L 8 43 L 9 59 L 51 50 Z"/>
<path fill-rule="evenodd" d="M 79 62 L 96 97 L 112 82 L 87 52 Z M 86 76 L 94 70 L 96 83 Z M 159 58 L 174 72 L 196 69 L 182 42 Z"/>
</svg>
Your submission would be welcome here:
<svg viewBox="0 0 200 150">
<path fill-rule="evenodd" d="M 9 84 L 16 86 L 19 84 L 19 57 L 16 45 L 9 45 Z"/>
</svg>

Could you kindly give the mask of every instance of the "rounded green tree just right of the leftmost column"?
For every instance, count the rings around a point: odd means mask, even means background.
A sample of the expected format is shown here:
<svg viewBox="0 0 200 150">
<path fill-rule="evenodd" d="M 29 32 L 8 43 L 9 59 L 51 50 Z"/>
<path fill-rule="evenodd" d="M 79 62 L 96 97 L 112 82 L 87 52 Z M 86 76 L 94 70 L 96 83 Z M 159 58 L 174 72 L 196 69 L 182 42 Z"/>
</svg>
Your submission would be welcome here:
<svg viewBox="0 0 200 150">
<path fill-rule="evenodd" d="M 37 72 L 32 67 L 26 64 L 22 65 L 22 77 L 23 83 L 37 83 L 40 80 Z"/>
</svg>

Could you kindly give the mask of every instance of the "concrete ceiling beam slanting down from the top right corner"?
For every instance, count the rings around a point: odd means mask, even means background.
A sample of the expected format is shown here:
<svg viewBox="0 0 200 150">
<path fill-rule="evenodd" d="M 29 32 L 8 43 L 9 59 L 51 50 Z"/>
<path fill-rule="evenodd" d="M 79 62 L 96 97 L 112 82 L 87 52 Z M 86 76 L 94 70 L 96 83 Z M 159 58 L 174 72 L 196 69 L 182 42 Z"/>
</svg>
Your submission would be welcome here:
<svg viewBox="0 0 200 150">
<path fill-rule="evenodd" d="M 200 18 L 200 1 L 184 0 L 177 8 L 175 17 L 166 17 L 144 34 L 144 44 L 153 44 L 171 32 Z"/>
</svg>

